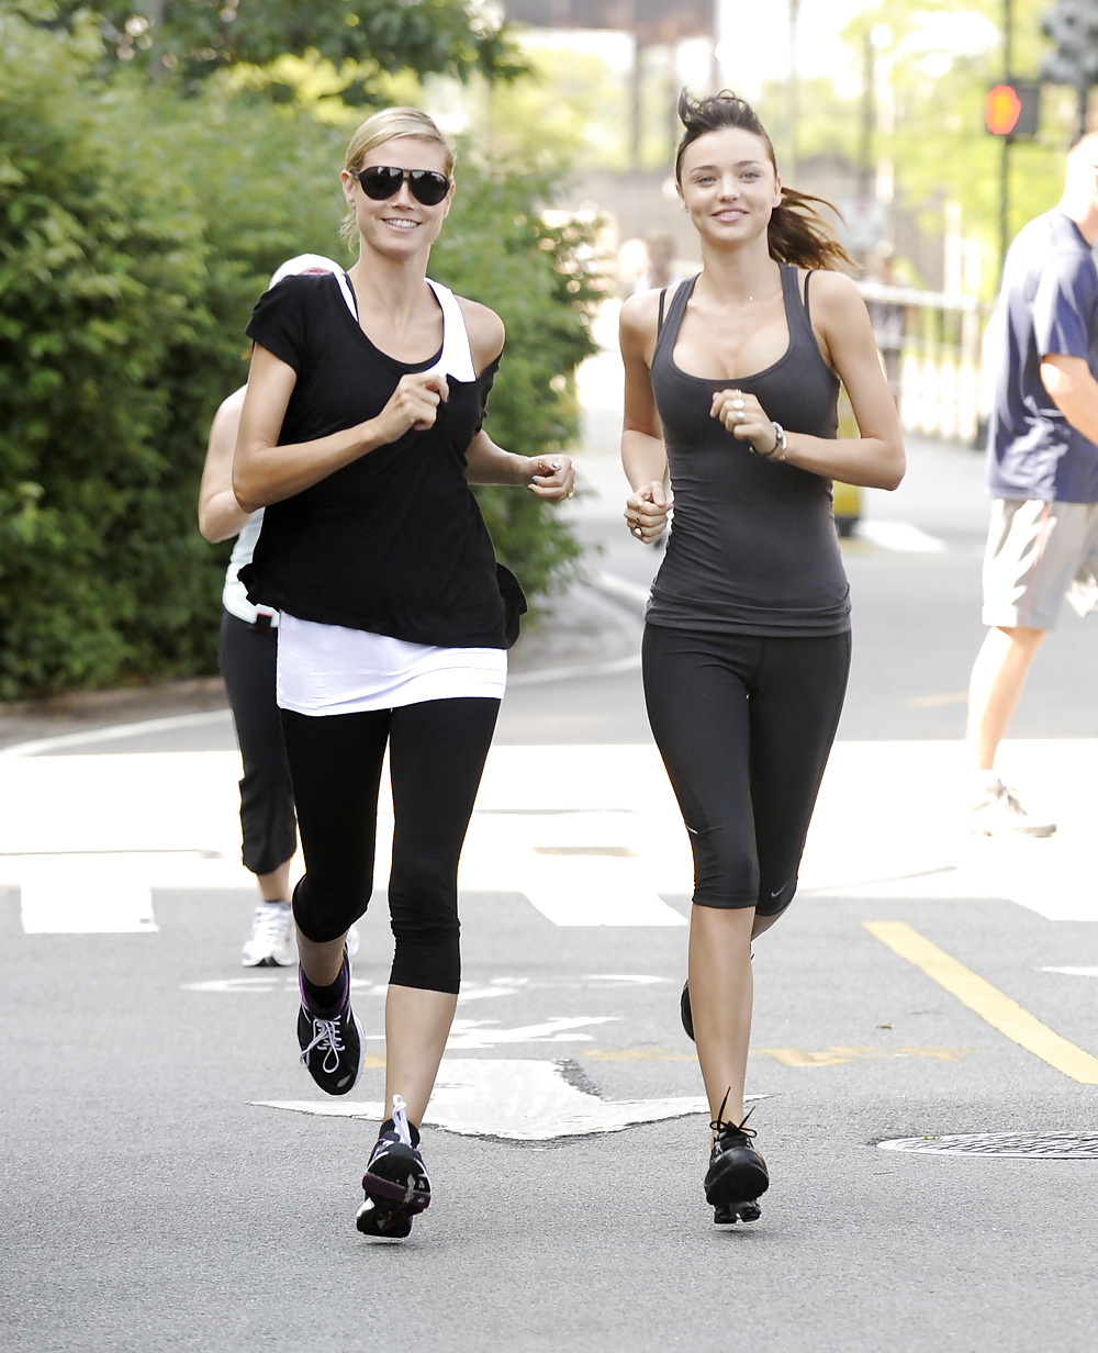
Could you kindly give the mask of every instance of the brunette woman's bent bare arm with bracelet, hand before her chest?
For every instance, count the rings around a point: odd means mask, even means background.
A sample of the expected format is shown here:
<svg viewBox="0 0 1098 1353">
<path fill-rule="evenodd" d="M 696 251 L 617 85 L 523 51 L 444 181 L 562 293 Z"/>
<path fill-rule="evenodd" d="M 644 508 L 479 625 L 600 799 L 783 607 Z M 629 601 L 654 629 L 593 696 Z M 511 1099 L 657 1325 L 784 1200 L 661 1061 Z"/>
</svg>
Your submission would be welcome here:
<svg viewBox="0 0 1098 1353">
<path fill-rule="evenodd" d="M 810 285 L 821 348 L 846 387 L 859 436 L 836 440 L 788 433 L 784 460 L 824 479 L 841 479 L 867 488 L 897 488 L 906 469 L 903 437 L 895 399 L 880 369 L 865 303 L 844 273 L 815 272 Z M 769 414 L 755 395 L 718 391 L 713 398 L 713 417 L 719 418 L 733 437 L 749 441 L 760 455 L 769 457 L 775 452 Z"/>
</svg>

